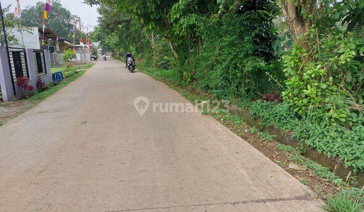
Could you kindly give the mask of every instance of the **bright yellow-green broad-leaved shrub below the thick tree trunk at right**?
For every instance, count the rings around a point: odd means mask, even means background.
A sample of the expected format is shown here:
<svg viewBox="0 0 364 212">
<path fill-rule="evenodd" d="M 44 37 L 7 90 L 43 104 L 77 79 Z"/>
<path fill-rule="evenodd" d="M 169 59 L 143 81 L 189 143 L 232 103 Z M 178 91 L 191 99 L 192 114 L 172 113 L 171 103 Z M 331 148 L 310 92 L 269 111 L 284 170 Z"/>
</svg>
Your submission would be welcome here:
<svg viewBox="0 0 364 212">
<path fill-rule="evenodd" d="M 360 61 L 364 41 L 355 33 L 337 32 L 316 39 L 312 28 L 307 34 L 312 52 L 294 45 L 285 59 L 288 79 L 283 98 L 299 114 L 322 113 L 335 125 L 364 123 L 364 64 Z M 320 45 L 315 43 L 321 42 Z M 313 57 L 312 57 L 313 56 Z"/>
</svg>

